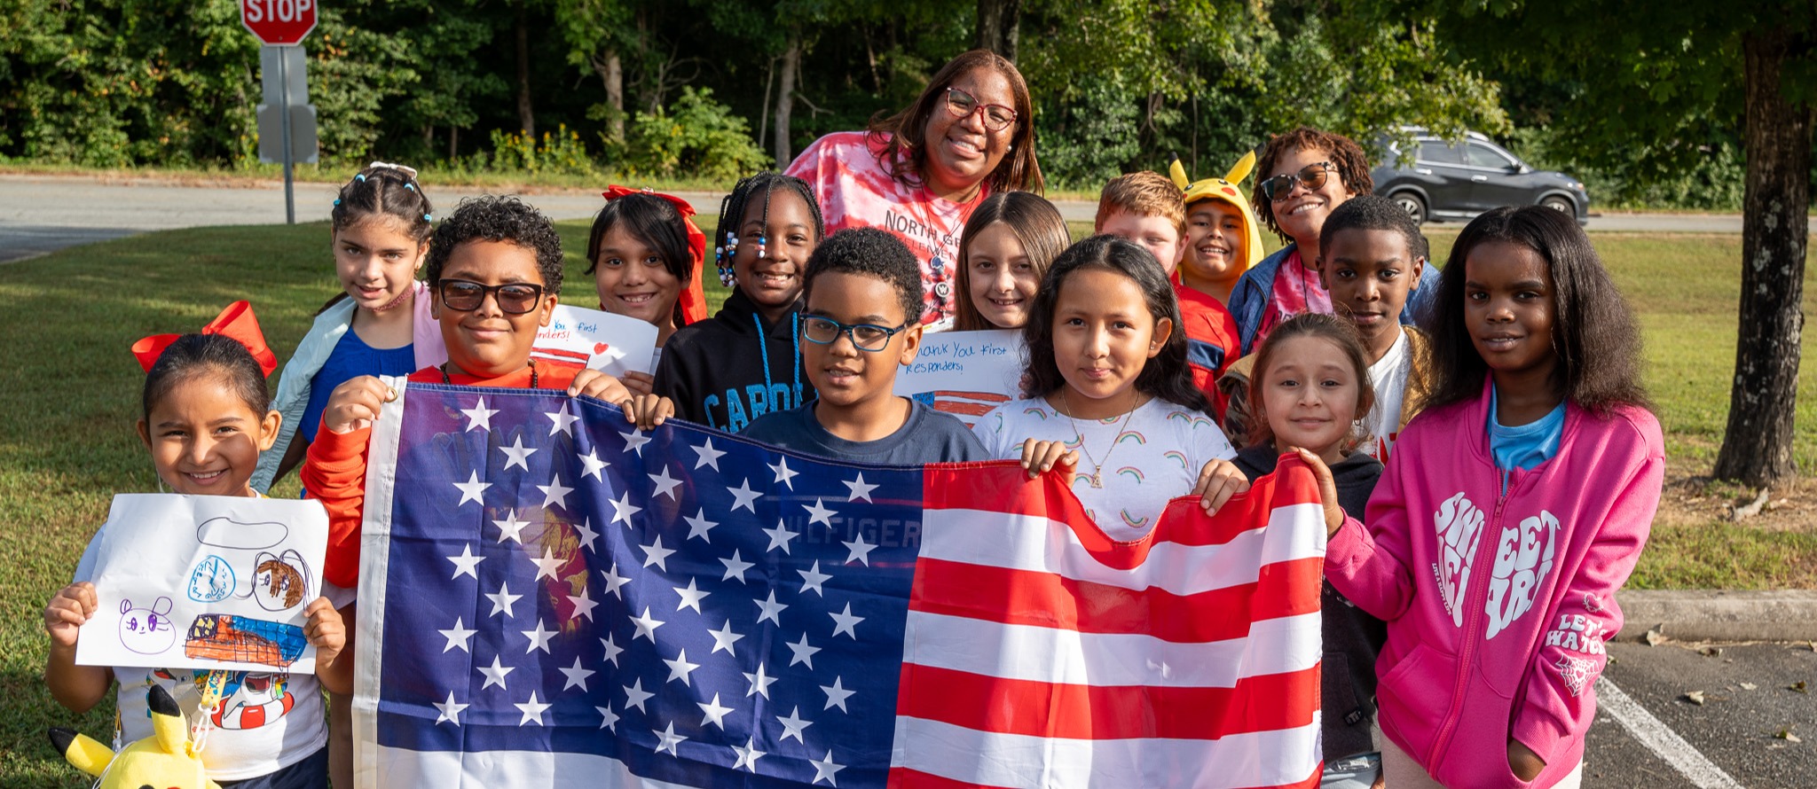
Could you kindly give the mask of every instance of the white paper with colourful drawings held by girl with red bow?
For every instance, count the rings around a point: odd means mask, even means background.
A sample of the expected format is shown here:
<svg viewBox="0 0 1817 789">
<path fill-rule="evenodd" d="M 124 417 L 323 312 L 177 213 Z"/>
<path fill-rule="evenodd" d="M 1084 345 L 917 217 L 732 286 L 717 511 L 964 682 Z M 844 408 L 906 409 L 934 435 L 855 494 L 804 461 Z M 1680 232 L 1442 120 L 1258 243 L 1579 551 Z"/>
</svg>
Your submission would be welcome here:
<svg viewBox="0 0 1817 789">
<path fill-rule="evenodd" d="M 303 609 L 322 597 L 327 539 L 316 501 L 116 495 L 76 664 L 311 673 Z"/>
</svg>

